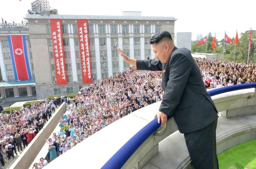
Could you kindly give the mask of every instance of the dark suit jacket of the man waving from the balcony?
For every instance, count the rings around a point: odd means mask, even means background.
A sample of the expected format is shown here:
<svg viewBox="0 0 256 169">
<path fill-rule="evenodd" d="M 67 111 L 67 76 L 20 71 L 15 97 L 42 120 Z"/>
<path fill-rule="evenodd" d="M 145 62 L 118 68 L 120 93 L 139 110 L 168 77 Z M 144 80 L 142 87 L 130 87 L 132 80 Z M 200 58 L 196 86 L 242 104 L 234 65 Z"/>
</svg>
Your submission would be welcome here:
<svg viewBox="0 0 256 169">
<path fill-rule="evenodd" d="M 159 60 L 137 60 L 138 70 L 163 71 L 163 100 L 159 111 L 173 117 L 181 133 L 200 130 L 218 118 L 199 67 L 190 50 L 175 47 L 166 64 Z"/>
</svg>

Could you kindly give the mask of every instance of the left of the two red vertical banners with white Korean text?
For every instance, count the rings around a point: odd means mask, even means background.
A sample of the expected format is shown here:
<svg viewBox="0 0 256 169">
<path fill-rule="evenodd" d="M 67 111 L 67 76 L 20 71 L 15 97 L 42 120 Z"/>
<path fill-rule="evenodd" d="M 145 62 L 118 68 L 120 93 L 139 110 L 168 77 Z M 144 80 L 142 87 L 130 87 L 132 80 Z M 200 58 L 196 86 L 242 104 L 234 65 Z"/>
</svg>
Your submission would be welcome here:
<svg viewBox="0 0 256 169">
<path fill-rule="evenodd" d="M 68 84 L 60 19 L 50 19 L 57 85 Z"/>
</svg>

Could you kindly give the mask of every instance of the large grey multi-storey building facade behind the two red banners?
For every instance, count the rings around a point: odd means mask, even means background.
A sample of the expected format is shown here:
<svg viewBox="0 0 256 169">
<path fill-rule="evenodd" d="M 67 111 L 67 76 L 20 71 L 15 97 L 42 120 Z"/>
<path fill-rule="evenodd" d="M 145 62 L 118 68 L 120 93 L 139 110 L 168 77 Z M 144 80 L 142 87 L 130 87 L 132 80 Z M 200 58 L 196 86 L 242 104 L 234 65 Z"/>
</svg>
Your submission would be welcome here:
<svg viewBox="0 0 256 169">
<path fill-rule="evenodd" d="M 154 52 L 149 43 L 150 38 L 164 30 L 169 31 L 174 37 L 176 19 L 174 17 L 141 16 L 140 14 L 140 12 L 123 12 L 123 16 L 26 15 L 25 19 L 27 19 L 29 27 L 27 41 L 28 45 L 31 45 L 31 61 L 33 55 L 31 67 L 36 81 L 37 98 L 77 93 L 84 85 L 82 83 L 77 19 L 88 19 L 93 81 L 114 76 L 117 72 L 130 67 L 120 58 L 117 47 L 130 58 L 154 58 Z M 50 19 L 61 19 L 62 21 L 63 48 L 68 79 L 66 85 L 56 84 Z M 6 71 L 2 73 L 6 73 Z"/>
</svg>

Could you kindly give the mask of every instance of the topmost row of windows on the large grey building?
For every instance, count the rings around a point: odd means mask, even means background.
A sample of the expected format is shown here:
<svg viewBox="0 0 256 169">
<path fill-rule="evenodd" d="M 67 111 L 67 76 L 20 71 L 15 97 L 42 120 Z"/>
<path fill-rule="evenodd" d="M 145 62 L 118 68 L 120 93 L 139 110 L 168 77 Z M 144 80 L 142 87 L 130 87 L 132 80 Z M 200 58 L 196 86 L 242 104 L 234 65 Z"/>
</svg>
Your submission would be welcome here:
<svg viewBox="0 0 256 169">
<path fill-rule="evenodd" d="M 48 33 L 51 34 L 51 26 L 47 25 Z M 88 25 L 89 33 L 93 33 L 93 25 Z M 106 33 L 105 25 L 98 25 L 98 33 Z M 68 25 L 62 25 L 62 33 L 68 34 Z M 74 33 L 78 33 L 77 25 L 74 25 Z M 110 25 L 110 33 L 117 33 L 117 25 Z M 129 25 L 122 25 L 122 33 L 129 33 Z M 140 25 L 133 25 L 133 33 L 140 32 Z M 151 25 L 144 25 L 144 33 L 151 33 Z M 160 25 L 155 25 L 155 33 L 160 33 Z"/>
</svg>

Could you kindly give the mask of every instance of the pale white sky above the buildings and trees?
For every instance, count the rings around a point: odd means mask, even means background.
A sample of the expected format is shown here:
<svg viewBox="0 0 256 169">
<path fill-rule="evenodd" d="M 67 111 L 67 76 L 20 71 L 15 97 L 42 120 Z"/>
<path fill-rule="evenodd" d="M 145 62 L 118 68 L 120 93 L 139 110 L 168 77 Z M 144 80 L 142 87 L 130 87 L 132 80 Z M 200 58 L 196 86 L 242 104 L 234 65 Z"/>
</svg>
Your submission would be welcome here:
<svg viewBox="0 0 256 169">
<path fill-rule="evenodd" d="M 0 18 L 21 23 L 31 9 L 33 0 L 1 0 Z M 175 21 L 174 32 L 191 32 L 206 36 L 216 33 L 216 39 L 230 38 L 256 29 L 253 0 L 49 0 L 50 7 L 60 15 L 122 15 L 122 11 L 141 11 L 142 16 L 169 16 Z M 1 20 L 0 20 L 1 22 Z"/>
</svg>

